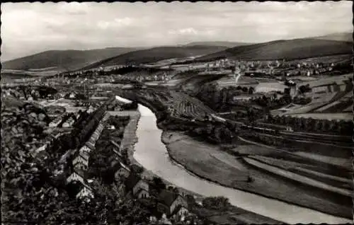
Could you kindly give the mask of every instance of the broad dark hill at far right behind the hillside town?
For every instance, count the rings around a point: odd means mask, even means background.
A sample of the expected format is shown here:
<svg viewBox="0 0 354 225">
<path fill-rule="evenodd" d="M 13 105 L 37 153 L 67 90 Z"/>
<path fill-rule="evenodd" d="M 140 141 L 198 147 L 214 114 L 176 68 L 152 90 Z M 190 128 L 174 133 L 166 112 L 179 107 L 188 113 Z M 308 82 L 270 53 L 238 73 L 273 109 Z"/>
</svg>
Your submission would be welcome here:
<svg viewBox="0 0 354 225">
<path fill-rule="evenodd" d="M 224 57 L 244 60 L 290 60 L 323 57 L 335 54 L 352 54 L 352 43 L 314 38 L 276 40 L 254 45 L 232 47 L 227 50 L 198 57 L 195 61 L 207 61 Z"/>
</svg>

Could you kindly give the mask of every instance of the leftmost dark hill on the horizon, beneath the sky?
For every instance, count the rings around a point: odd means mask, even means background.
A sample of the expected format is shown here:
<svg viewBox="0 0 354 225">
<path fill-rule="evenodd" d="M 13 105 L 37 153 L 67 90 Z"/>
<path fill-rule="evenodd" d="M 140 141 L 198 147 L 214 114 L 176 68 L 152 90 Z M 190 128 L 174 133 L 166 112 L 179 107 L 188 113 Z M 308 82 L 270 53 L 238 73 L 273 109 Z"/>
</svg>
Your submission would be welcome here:
<svg viewBox="0 0 354 225">
<path fill-rule="evenodd" d="M 137 50 L 128 47 L 109 47 L 99 50 L 50 50 L 27 57 L 2 62 L 3 69 L 74 70 L 102 59 Z"/>
</svg>

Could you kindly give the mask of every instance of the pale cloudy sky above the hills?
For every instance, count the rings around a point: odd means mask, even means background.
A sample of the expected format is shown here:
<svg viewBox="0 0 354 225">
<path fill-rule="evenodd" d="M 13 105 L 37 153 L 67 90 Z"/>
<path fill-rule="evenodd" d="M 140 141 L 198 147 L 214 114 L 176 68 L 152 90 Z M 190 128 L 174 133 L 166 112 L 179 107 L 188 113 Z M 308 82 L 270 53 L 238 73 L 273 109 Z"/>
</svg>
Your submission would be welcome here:
<svg viewBox="0 0 354 225">
<path fill-rule="evenodd" d="M 1 61 L 46 50 L 267 42 L 352 32 L 352 1 L 1 4 Z"/>
</svg>

